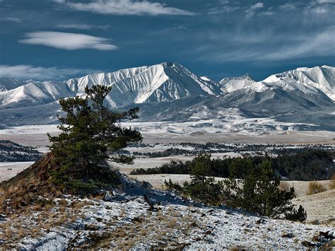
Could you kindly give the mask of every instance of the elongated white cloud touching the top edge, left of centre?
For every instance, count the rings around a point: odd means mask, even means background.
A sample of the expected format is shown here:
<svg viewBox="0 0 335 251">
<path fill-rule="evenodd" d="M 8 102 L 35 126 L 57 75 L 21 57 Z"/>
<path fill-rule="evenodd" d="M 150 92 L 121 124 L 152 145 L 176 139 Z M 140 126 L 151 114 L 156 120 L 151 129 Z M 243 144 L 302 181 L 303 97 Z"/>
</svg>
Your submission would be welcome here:
<svg viewBox="0 0 335 251">
<path fill-rule="evenodd" d="M 137 16 L 159 16 L 159 15 L 195 15 L 192 11 L 182 10 L 151 2 L 147 0 L 94 0 L 91 2 L 74 2 L 69 0 L 56 0 L 57 3 L 75 11 L 90 11 L 105 15 L 137 15 Z"/>
</svg>

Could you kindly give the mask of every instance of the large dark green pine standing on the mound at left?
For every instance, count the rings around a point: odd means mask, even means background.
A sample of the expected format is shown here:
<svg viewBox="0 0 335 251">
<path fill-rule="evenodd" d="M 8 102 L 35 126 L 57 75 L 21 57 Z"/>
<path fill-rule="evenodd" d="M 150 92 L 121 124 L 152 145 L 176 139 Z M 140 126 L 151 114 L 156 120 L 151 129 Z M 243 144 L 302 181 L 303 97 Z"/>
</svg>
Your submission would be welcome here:
<svg viewBox="0 0 335 251">
<path fill-rule="evenodd" d="M 117 163 L 132 163 L 129 156 L 116 152 L 129 143 L 141 141 L 139 132 L 121 127 L 123 119 L 136 119 L 138 108 L 126 112 L 114 112 L 105 105 L 105 98 L 112 90 L 107 86 L 86 87 L 86 97 L 59 100 L 64 117 L 58 117 L 61 134 L 49 136 L 50 149 L 55 164 L 59 167 L 52 172 L 54 182 L 68 189 L 79 191 L 86 187 L 99 187 L 115 179 L 109 173 L 107 160 Z M 97 181 L 99 180 L 99 181 Z M 85 184 L 80 184 L 85 183 Z"/>
</svg>

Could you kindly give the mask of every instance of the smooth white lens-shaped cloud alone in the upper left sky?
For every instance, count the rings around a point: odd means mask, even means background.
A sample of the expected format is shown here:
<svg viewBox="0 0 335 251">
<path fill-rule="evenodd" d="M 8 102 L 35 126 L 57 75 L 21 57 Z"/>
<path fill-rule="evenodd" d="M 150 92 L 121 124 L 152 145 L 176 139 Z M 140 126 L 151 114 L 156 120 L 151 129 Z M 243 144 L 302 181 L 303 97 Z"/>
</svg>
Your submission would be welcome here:
<svg viewBox="0 0 335 251">
<path fill-rule="evenodd" d="M 57 49 L 117 49 L 116 45 L 110 44 L 105 37 L 94 37 L 86 34 L 59 33 L 54 31 L 41 31 L 26 33 L 25 38 L 18 42 L 28 45 L 45 45 Z"/>
</svg>

